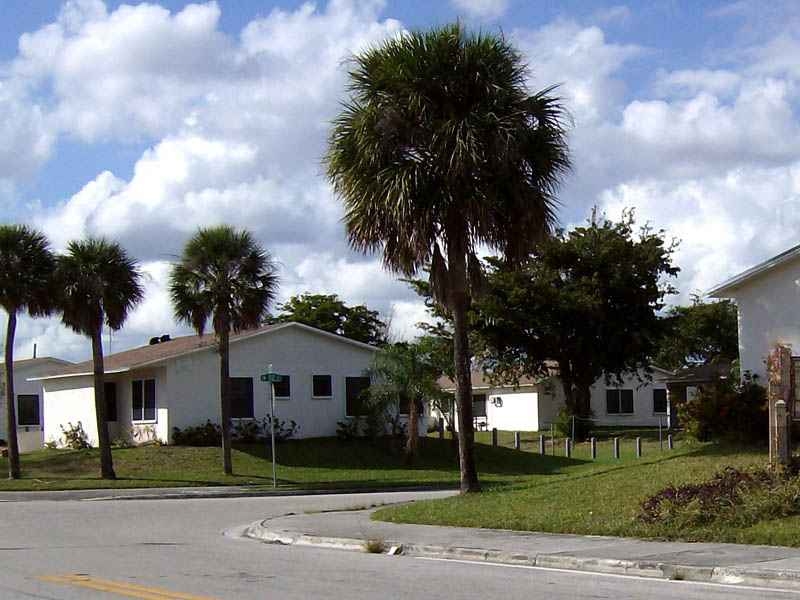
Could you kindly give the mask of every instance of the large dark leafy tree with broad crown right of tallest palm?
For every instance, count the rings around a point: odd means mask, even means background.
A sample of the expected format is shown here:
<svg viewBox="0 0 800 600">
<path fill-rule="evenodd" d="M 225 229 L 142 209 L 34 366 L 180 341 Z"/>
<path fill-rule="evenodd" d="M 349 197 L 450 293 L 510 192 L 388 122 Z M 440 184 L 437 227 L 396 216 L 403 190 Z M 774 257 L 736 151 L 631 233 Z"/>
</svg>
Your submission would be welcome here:
<svg viewBox="0 0 800 600">
<path fill-rule="evenodd" d="M 633 227 L 632 213 L 620 222 L 593 217 L 543 241 L 520 269 L 491 261 L 478 311 L 493 377 L 543 375 L 556 361 L 568 410 L 589 416 L 599 377 L 648 369 L 663 335 L 658 311 L 679 269 L 663 232 Z"/>
</svg>

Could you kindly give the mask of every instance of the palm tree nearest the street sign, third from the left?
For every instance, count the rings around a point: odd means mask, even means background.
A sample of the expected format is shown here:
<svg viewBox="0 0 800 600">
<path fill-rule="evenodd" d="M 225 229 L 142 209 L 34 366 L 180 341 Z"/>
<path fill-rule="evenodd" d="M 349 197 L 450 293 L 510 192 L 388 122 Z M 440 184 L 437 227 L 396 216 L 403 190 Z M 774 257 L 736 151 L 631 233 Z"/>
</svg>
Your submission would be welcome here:
<svg viewBox="0 0 800 600">
<path fill-rule="evenodd" d="M 222 462 L 231 462 L 230 369 L 231 331 L 257 327 L 278 289 L 277 266 L 250 232 L 220 225 L 200 229 L 172 267 L 170 295 L 175 317 L 202 335 L 210 320 L 219 347 Z"/>
</svg>

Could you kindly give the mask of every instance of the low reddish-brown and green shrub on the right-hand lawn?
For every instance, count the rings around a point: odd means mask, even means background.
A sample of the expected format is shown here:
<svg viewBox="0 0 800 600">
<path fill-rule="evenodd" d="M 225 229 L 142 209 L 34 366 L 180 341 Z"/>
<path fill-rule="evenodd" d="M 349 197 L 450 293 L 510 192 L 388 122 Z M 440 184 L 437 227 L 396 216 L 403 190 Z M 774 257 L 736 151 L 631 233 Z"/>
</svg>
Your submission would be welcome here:
<svg viewBox="0 0 800 600">
<path fill-rule="evenodd" d="M 796 514 L 800 514 L 796 475 L 728 467 L 703 483 L 670 486 L 647 498 L 639 520 L 681 530 L 715 524 L 747 527 Z"/>
</svg>

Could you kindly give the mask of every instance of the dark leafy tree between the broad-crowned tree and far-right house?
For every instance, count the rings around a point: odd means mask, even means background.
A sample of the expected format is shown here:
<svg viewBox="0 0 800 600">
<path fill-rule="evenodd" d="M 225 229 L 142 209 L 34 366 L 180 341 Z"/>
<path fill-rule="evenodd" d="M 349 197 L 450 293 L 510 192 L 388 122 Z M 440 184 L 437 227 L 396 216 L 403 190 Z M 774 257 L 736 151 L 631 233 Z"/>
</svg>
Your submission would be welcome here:
<svg viewBox="0 0 800 600">
<path fill-rule="evenodd" d="M 661 367 L 679 369 L 739 356 L 738 317 L 730 300 L 703 302 L 694 296 L 689 306 L 671 307 L 665 325 L 654 361 Z"/>
</svg>

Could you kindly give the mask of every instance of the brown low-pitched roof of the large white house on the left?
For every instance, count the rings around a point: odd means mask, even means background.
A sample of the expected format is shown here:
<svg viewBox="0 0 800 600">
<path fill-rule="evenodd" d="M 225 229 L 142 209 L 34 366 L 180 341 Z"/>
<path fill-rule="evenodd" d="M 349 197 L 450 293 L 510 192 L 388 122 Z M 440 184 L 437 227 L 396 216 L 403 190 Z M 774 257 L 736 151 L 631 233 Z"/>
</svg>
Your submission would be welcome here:
<svg viewBox="0 0 800 600">
<path fill-rule="evenodd" d="M 303 323 L 294 322 L 264 325 L 256 329 L 240 331 L 239 333 L 231 334 L 230 342 L 234 344 L 236 342 L 241 342 L 242 340 L 267 333 L 273 333 L 288 327 L 310 331 L 317 335 L 335 339 L 345 344 L 352 344 L 365 350 L 377 351 L 377 348 L 370 344 L 351 340 L 335 333 L 330 333 L 328 331 L 317 329 L 316 327 L 304 325 Z M 134 369 L 159 365 L 173 358 L 207 350 L 212 348 L 214 344 L 216 344 L 216 337 L 214 334 L 209 333 L 205 335 L 187 335 L 173 338 L 166 342 L 160 342 L 158 344 L 140 346 L 131 350 L 110 354 L 104 357 L 103 363 L 106 373 L 124 373 Z M 80 377 L 91 375 L 92 372 L 93 364 L 91 360 L 88 360 L 82 363 L 68 364 L 63 369 L 59 369 L 57 372 L 47 376 L 32 377 L 30 378 L 30 381 L 37 381 L 40 379 L 60 379 L 62 377 Z"/>
</svg>

